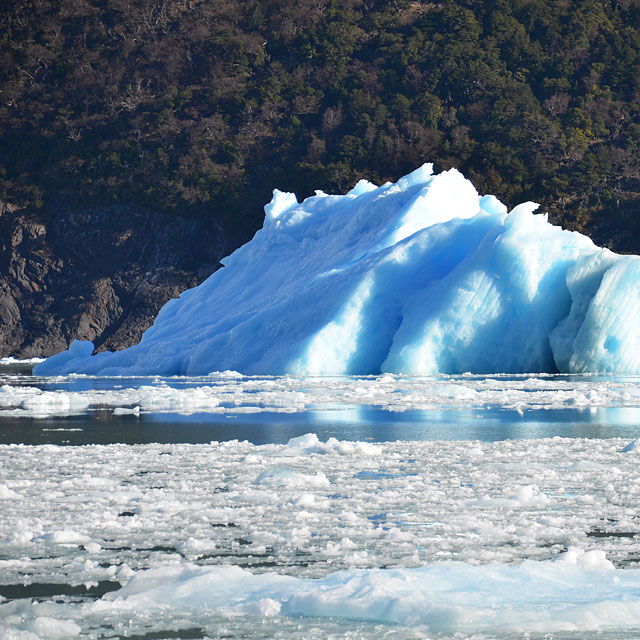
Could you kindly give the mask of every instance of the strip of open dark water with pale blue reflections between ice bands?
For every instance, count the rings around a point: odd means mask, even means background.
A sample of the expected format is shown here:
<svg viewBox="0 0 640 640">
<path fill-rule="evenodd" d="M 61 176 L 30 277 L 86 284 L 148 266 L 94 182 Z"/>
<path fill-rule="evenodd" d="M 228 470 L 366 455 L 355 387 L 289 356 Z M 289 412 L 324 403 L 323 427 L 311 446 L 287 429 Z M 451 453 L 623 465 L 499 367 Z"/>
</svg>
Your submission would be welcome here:
<svg viewBox="0 0 640 640">
<path fill-rule="evenodd" d="M 483 440 L 629 438 L 640 436 L 640 408 L 592 411 L 538 410 L 519 415 L 503 409 L 383 411 L 371 407 L 295 414 L 149 414 L 111 411 L 49 419 L 0 420 L 0 444 L 147 444 L 247 440 L 284 444 L 314 432 L 321 440 Z"/>
</svg>

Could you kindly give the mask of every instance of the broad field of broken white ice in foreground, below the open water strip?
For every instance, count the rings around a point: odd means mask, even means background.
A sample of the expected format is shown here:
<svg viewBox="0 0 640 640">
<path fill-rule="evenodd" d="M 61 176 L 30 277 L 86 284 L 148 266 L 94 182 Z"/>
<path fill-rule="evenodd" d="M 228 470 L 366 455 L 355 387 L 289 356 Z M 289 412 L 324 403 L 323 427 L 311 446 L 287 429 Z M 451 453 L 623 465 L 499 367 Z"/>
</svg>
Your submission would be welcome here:
<svg viewBox="0 0 640 640">
<path fill-rule="evenodd" d="M 637 637 L 627 444 L 0 446 L 0 635 Z"/>
</svg>

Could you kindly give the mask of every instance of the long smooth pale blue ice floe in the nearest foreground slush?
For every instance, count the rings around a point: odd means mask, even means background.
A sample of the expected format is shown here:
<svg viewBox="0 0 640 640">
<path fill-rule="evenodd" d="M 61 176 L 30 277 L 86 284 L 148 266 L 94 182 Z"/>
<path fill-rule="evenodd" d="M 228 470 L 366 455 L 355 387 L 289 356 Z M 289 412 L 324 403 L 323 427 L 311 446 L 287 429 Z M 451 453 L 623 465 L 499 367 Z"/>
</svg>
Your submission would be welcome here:
<svg viewBox="0 0 640 640">
<path fill-rule="evenodd" d="M 256 575 L 234 566 L 166 566 L 139 572 L 126 587 L 104 596 L 101 608 L 111 602 L 112 612 L 171 605 L 185 612 L 346 618 L 426 625 L 447 634 L 637 625 L 640 601 L 630 589 L 640 584 L 638 570 L 616 570 L 600 552 L 581 551 L 570 549 L 557 562 L 351 569 L 315 580 Z"/>
</svg>

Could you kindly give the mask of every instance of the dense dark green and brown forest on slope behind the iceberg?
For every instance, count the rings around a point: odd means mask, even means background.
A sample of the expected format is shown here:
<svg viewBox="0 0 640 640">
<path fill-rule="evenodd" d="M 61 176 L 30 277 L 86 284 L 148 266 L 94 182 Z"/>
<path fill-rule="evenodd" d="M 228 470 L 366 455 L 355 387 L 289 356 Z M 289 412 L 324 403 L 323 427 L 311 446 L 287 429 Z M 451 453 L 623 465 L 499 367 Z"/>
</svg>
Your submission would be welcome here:
<svg viewBox="0 0 640 640">
<path fill-rule="evenodd" d="M 0 200 L 211 217 L 425 161 L 640 250 L 640 0 L 5 0 Z"/>
</svg>

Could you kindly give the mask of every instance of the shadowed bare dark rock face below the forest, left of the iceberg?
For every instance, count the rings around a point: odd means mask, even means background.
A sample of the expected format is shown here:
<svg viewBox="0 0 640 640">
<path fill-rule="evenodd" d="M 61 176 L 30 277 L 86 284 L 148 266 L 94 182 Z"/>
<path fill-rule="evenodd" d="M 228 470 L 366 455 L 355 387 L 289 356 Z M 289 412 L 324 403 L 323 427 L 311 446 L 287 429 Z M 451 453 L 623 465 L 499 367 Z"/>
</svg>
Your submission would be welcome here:
<svg viewBox="0 0 640 640">
<path fill-rule="evenodd" d="M 0 215 L 0 355 L 49 356 L 74 339 L 96 350 L 140 340 L 162 305 L 220 267 L 217 225 L 114 206 L 41 222 Z"/>
</svg>

